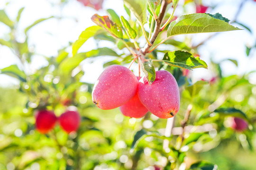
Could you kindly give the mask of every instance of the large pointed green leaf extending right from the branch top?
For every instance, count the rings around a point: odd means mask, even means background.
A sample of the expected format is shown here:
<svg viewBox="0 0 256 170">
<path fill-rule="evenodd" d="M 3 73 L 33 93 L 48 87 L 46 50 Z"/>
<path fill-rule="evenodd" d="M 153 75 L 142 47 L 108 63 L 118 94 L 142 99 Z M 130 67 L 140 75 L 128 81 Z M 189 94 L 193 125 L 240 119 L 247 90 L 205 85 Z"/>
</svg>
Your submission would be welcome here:
<svg viewBox="0 0 256 170">
<path fill-rule="evenodd" d="M 179 34 L 211 33 L 240 30 L 227 22 L 211 17 L 208 14 L 189 14 L 178 17 L 171 22 L 167 30 L 167 37 Z"/>
</svg>

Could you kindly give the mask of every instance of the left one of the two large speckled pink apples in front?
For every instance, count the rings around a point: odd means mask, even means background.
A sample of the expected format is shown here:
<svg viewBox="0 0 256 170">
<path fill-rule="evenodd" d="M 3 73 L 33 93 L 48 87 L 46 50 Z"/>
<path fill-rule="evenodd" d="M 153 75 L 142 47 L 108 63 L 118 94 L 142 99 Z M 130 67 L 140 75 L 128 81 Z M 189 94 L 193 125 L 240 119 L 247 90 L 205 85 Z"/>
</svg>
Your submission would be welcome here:
<svg viewBox="0 0 256 170">
<path fill-rule="evenodd" d="M 112 65 L 96 81 L 92 90 L 92 101 L 103 110 L 120 107 L 135 95 L 137 85 L 137 78 L 131 70 Z"/>
</svg>

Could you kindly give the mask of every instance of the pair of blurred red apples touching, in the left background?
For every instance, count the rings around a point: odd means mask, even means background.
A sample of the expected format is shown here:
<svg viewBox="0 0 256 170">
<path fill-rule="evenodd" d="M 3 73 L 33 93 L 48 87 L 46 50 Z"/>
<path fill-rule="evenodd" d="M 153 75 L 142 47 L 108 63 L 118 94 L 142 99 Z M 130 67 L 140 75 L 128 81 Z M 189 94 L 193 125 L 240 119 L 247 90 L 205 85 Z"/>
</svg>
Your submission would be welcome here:
<svg viewBox="0 0 256 170">
<path fill-rule="evenodd" d="M 67 110 L 60 117 L 56 117 L 53 111 L 38 110 L 36 113 L 36 128 L 40 133 L 46 134 L 59 123 L 65 132 L 70 133 L 78 129 L 80 119 L 77 111 Z"/>
</svg>

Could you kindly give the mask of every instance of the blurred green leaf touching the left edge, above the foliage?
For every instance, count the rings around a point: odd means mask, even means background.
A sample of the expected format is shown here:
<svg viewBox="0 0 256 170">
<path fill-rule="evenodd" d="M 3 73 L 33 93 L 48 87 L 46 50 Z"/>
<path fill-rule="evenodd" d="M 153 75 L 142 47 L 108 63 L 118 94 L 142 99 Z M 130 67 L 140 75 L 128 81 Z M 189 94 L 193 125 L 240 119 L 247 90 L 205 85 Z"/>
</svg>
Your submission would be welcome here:
<svg viewBox="0 0 256 170">
<path fill-rule="evenodd" d="M 17 65 L 11 65 L 7 68 L 2 68 L 0 71 L 1 74 L 6 74 L 18 78 L 20 81 L 26 82 L 26 74 L 24 71 L 21 71 Z"/>
</svg>

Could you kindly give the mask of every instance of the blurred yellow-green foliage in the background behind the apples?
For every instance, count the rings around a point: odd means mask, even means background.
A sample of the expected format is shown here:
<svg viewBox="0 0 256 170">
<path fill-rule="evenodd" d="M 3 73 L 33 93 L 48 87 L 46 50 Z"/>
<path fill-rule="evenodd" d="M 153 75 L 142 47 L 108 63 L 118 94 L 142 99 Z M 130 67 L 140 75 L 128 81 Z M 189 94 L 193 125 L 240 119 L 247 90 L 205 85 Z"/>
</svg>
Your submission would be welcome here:
<svg viewBox="0 0 256 170">
<path fill-rule="evenodd" d="M 158 1 L 150 0 L 155 4 Z M 153 7 L 158 14 L 159 9 Z M 181 90 L 181 108 L 175 116 L 173 134 L 166 137 L 166 119 L 158 119 L 151 113 L 141 119 L 130 119 L 119 109 L 100 110 L 91 102 L 93 85 L 80 82 L 84 74 L 81 62 L 86 58 L 114 56 L 115 59 L 105 63 L 104 67 L 130 63 L 130 54 L 118 54 L 125 44 L 136 48 L 136 44 L 128 41 L 128 37 L 134 39 L 136 35 L 124 34 L 124 39 L 116 42 L 101 29 L 96 31 L 97 34 L 86 34 L 85 37 L 81 34 L 75 42 L 80 46 L 93 37 L 113 43 L 113 49 L 104 47 L 80 53 L 76 50 L 71 54 L 65 47 L 57 56 L 45 57 L 47 66 L 28 73 L 27 67 L 35 53 L 27 46 L 29 36 L 26 33 L 52 17 L 27 26 L 24 30 L 26 41 L 21 43 L 16 39 L 16 26 L 23 9 L 19 10 L 15 21 L 0 10 L 0 22 L 10 28 L 10 40 L 0 39 L 0 44 L 9 47 L 22 63 L 0 70 L 1 74 L 20 80 L 18 86 L 0 88 L 0 170 L 143 170 L 146 167 L 155 170 L 155 166 L 165 170 L 177 166 L 185 166 L 184 170 L 214 170 L 217 165 L 220 170 L 255 169 L 256 86 L 248 81 L 249 74 L 225 77 L 221 73 L 221 63 L 211 61 L 208 66 L 213 68 L 216 76 L 209 81 L 192 83 L 191 71 L 184 74 L 185 69 L 154 63 L 155 68 L 173 73 Z M 127 25 L 129 22 L 129 31 L 137 30 L 137 36 L 143 34 L 131 18 L 120 21 L 113 10 L 108 12 L 117 24 Z M 156 39 L 157 42 L 160 39 Z M 169 39 L 163 45 L 189 51 L 194 56 L 197 54 L 197 48 L 187 42 Z M 147 57 L 158 59 L 166 52 L 156 49 Z M 247 55 L 249 52 L 247 49 Z M 237 65 L 236 60 L 231 62 Z M 183 134 L 181 125 L 190 104 L 192 110 Z M 70 106 L 75 106 L 82 117 L 76 133 L 66 134 L 58 125 L 46 135 L 37 132 L 35 110 L 47 108 L 60 116 Z M 227 126 L 230 116 L 246 119 L 249 128 L 235 132 Z M 166 140 L 169 145 L 163 149 Z"/>
</svg>

